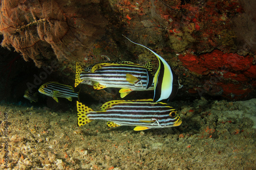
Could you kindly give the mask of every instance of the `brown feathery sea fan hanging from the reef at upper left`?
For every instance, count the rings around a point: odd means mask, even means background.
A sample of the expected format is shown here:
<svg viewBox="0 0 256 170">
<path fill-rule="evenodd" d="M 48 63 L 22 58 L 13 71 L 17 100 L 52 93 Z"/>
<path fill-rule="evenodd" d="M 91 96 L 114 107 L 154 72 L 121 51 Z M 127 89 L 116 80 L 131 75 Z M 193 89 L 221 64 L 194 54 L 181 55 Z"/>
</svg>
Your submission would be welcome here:
<svg viewBox="0 0 256 170">
<path fill-rule="evenodd" d="M 99 1 L 2 1 L 2 46 L 40 66 L 55 55 L 78 60 L 104 33 Z"/>
</svg>

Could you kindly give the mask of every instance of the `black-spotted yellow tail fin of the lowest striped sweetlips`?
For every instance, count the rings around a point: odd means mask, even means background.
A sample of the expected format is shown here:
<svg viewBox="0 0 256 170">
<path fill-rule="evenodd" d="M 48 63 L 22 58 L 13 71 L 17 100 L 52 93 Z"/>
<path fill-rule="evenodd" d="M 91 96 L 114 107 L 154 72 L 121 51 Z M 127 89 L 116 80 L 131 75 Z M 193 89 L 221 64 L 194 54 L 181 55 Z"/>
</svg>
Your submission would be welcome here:
<svg viewBox="0 0 256 170">
<path fill-rule="evenodd" d="M 87 107 L 86 105 L 83 105 L 82 103 L 76 101 L 76 107 L 77 107 L 77 125 L 78 126 L 83 126 L 88 124 L 89 122 L 92 122 L 87 117 L 87 114 L 92 112 L 93 109 Z"/>
</svg>

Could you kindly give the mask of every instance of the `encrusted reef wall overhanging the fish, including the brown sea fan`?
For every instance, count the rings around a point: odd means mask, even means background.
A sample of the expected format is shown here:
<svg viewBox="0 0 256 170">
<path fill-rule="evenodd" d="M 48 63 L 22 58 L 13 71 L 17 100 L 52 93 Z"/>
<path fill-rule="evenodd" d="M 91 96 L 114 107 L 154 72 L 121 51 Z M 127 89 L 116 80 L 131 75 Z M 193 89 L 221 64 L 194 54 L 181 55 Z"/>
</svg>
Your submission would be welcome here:
<svg viewBox="0 0 256 170">
<path fill-rule="evenodd" d="M 64 64 L 58 75 L 72 76 L 74 61 L 88 66 L 103 61 L 101 55 L 142 65 L 151 61 L 156 71 L 156 57 L 126 41 L 123 34 L 168 62 L 183 85 L 180 95 L 237 100 L 251 98 L 255 91 L 255 4 L 252 0 L 4 0 L 0 31 L 2 45 L 13 46 L 26 61 L 31 58 L 40 66 L 57 57 Z"/>
</svg>

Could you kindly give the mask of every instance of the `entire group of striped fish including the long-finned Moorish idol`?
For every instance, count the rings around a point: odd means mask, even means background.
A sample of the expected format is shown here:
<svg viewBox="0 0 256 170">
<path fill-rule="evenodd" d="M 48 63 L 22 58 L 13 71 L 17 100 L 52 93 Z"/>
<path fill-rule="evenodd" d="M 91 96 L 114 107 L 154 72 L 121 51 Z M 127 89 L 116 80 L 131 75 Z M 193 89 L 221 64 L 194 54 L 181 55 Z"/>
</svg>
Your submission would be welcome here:
<svg viewBox="0 0 256 170">
<path fill-rule="evenodd" d="M 75 87 L 87 84 L 95 90 L 119 88 L 121 98 L 132 91 L 154 90 L 153 99 L 109 101 L 101 106 L 100 111 L 94 111 L 79 102 L 78 92 L 75 92 L 72 86 L 47 82 L 41 85 L 38 91 L 51 96 L 56 102 L 58 98 L 66 98 L 69 101 L 78 98 L 78 126 L 86 125 L 95 119 L 108 121 L 108 127 L 135 126 L 135 131 L 180 126 L 182 120 L 177 110 L 163 103 L 172 101 L 178 89 L 182 87 L 177 75 L 157 53 L 141 44 L 131 42 L 146 48 L 157 57 L 159 66 L 155 74 L 152 72 L 151 62 L 142 66 L 131 61 L 104 61 L 86 68 L 76 63 Z M 26 90 L 24 97 L 36 102 L 34 94 L 33 90 Z"/>
</svg>

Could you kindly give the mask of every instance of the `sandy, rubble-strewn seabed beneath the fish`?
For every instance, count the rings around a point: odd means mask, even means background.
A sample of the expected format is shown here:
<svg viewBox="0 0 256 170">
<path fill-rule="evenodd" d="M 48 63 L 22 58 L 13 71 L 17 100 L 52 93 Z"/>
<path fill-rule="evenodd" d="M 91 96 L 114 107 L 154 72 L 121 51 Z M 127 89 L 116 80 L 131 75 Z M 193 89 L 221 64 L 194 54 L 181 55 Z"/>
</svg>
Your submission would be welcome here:
<svg viewBox="0 0 256 170">
<path fill-rule="evenodd" d="M 0 169 L 256 169 L 256 99 L 169 105 L 181 126 L 133 131 L 77 127 L 76 110 L 2 104 Z"/>
</svg>

